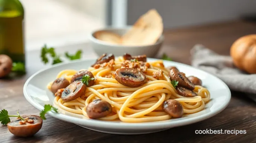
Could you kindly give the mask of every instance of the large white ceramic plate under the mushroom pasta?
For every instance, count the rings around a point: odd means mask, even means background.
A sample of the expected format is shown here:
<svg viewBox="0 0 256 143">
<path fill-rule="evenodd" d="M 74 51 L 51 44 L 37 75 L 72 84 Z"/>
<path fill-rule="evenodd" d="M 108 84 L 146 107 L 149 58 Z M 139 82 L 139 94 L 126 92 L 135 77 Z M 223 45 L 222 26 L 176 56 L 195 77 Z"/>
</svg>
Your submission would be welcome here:
<svg viewBox="0 0 256 143">
<path fill-rule="evenodd" d="M 148 59 L 153 61 L 156 59 Z M 24 84 L 24 96 L 38 110 L 43 110 L 44 104 L 53 104 L 54 95 L 46 88 L 50 81 L 55 80 L 59 71 L 64 69 L 87 69 L 95 62 L 92 60 L 77 60 L 70 63 L 62 63 L 52 66 L 48 69 L 43 69 L 32 75 Z M 84 128 L 94 131 L 107 132 L 114 134 L 145 134 L 150 132 L 162 131 L 165 129 L 188 125 L 191 123 L 199 122 L 208 119 L 227 107 L 229 104 L 231 93 L 227 85 L 219 78 L 208 74 L 207 72 L 193 68 L 192 66 L 182 63 L 164 61 L 165 66 L 176 66 L 180 71 L 186 75 L 194 75 L 200 78 L 203 86 L 209 89 L 211 100 L 206 104 L 204 110 L 186 115 L 179 119 L 170 119 L 157 122 L 145 123 L 125 123 L 88 119 L 83 115 L 69 113 L 64 110 L 59 110 L 59 113 L 49 112 L 50 116 L 67 122 L 75 123 Z"/>
</svg>

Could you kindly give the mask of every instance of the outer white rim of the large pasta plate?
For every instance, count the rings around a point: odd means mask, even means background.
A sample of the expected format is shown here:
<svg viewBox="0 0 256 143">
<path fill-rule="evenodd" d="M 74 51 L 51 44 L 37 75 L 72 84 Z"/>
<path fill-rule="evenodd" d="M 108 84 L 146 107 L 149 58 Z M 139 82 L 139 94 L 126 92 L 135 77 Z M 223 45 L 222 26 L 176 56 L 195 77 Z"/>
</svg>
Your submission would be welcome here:
<svg viewBox="0 0 256 143">
<path fill-rule="evenodd" d="M 160 60 L 160 59 L 155 59 L 155 58 L 147 58 L 149 60 Z M 37 74 L 46 71 L 47 69 L 56 67 L 56 66 L 61 66 L 61 65 L 68 65 L 70 63 L 76 63 L 76 62 L 84 62 L 84 61 L 90 61 L 90 60 L 95 60 L 94 58 L 90 58 L 90 59 L 79 59 L 79 60 L 73 60 L 70 62 L 65 62 L 65 63 L 58 63 L 56 65 L 50 66 L 50 67 L 46 67 L 43 68 L 37 72 L 35 72 L 33 75 L 31 75 L 26 82 L 24 83 L 23 86 L 23 94 L 24 97 L 26 98 L 26 100 L 36 109 L 38 110 L 43 110 L 43 106 L 38 104 L 37 102 L 34 102 L 32 100 L 32 98 L 30 98 L 29 94 L 27 93 L 27 84 L 29 83 L 29 81 L 34 78 Z M 178 119 L 178 120 L 170 120 L 169 122 L 161 122 L 161 121 L 155 121 L 155 122 L 139 122 L 139 123 L 129 123 L 129 122 L 111 122 L 111 121 L 102 121 L 102 120 L 95 120 L 95 119 L 82 119 L 82 118 L 78 118 L 78 117 L 74 117 L 74 116 L 69 116 L 66 114 L 61 114 L 61 113 L 55 113 L 53 111 L 49 111 L 47 112 L 47 114 L 49 114 L 52 117 L 55 117 L 57 119 L 60 120 L 64 120 L 66 122 L 70 122 L 70 123 L 75 123 L 75 124 L 79 124 L 79 125 L 84 125 L 84 126 L 90 126 L 90 127 L 101 127 L 101 128 L 111 128 L 111 129 L 159 129 L 159 128 L 173 128 L 173 127 L 177 127 L 177 126 L 183 126 L 183 125 L 189 125 L 192 123 L 196 123 L 196 122 L 200 122 L 202 120 L 206 120 L 209 119 L 210 117 L 215 116 L 216 114 L 220 113 L 221 111 L 223 111 L 227 105 L 229 105 L 230 103 L 230 99 L 231 99 L 231 92 L 229 87 L 227 86 L 226 83 L 224 83 L 224 81 L 222 81 L 221 79 L 219 79 L 218 77 L 216 77 L 213 74 L 210 74 L 206 71 L 203 71 L 201 69 L 197 69 L 193 66 L 190 65 L 186 65 L 184 63 L 179 63 L 179 62 L 174 62 L 174 61 L 167 61 L 167 60 L 163 60 L 166 62 L 171 62 L 171 63 L 178 63 L 181 64 L 183 66 L 188 66 L 190 68 L 199 70 L 201 72 L 204 72 L 206 74 L 212 75 L 213 77 L 217 78 L 222 84 L 223 86 L 225 86 L 225 88 L 228 91 L 228 95 L 227 96 L 227 100 L 221 104 L 220 108 L 218 108 L 218 110 L 214 110 L 212 112 L 208 112 L 206 114 L 202 114 L 200 116 L 195 116 L 195 117 L 190 117 L 189 119 Z"/>
</svg>

